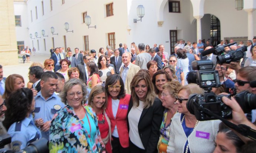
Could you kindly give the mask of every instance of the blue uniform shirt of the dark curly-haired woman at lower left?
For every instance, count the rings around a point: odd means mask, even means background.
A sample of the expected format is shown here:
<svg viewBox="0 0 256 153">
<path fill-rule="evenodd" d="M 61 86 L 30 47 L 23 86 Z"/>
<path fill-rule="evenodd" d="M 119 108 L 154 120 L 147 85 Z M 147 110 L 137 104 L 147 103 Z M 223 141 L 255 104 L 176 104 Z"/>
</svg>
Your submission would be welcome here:
<svg viewBox="0 0 256 153">
<path fill-rule="evenodd" d="M 13 123 L 7 133 L 12 137 L 12 146 L 20 146 L 20 149 L 24 149 L 29 143 L 42 138 L 41 132 L 34 124 L 31 114 L 29 118 Z"/>
</svg>

